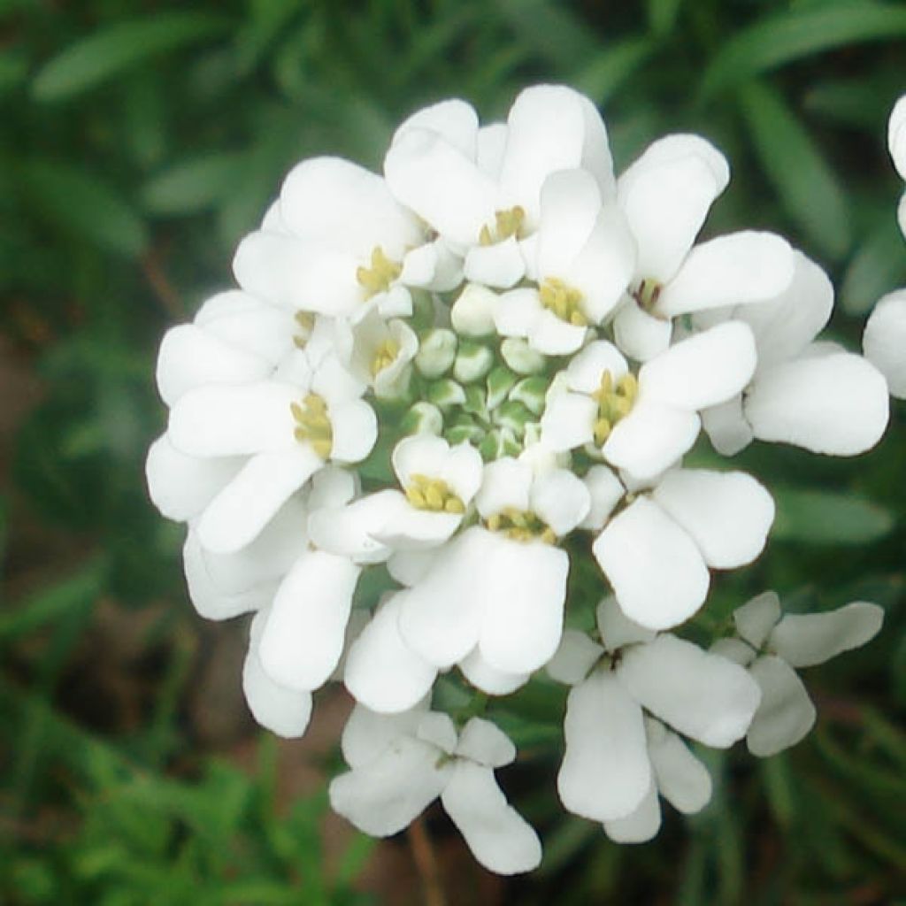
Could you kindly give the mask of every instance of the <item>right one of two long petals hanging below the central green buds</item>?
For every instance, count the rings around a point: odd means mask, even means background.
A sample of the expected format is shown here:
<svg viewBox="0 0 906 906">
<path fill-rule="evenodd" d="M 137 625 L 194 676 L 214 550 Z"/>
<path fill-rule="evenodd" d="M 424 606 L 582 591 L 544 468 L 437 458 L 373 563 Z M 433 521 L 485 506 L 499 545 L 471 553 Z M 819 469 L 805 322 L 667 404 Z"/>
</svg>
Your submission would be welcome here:
<svg viewBox="0 0 906 906">
<path fill-rule="evenodd" d="M 538 670 L 560 644 L 569 557 L 544 542 L 500 537 L 485 571 L 482 657 L 506 673 Z"/>
</svg>

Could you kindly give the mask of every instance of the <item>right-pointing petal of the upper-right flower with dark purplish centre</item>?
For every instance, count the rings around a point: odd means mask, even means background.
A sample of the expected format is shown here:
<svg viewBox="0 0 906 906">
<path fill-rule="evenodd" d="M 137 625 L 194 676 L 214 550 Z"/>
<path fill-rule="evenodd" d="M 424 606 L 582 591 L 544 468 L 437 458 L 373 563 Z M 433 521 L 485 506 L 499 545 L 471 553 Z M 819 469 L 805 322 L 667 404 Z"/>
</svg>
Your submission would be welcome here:
<svg viewBox="0 0 906 906">
<path fill-rule="evenodd" d="M 793 250 L 773 233 L 744 231 L 695 246 L 655 306 L 666 317 L 761 302 L 793 279 Z"/>
</svg>

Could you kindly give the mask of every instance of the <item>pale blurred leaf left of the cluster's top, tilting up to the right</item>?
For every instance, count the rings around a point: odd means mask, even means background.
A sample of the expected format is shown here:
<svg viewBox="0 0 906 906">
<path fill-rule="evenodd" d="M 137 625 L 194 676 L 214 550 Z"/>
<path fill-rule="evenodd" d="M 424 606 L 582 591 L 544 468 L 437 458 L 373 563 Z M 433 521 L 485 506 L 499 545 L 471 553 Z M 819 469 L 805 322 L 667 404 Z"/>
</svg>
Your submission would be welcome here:
<svg viewBox="0 0 906 906">
<path fill-rule="evenodd" d="M 145 184 L 141 198 L 154 214 L 194 214 L 223 198 L 242 178 L 246 155 L 221 152 L 184 160 Z"/>
</svg>

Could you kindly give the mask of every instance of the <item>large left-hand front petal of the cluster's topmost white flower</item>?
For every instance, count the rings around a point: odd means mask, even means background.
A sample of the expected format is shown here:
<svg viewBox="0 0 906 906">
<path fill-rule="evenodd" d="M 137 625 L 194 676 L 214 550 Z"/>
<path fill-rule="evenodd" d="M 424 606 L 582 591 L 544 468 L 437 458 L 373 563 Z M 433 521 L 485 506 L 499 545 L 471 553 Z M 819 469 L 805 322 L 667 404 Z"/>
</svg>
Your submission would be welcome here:
<svg viewBox="0 0 906 906">
<path fill-rule="evenodd" d="M 384 173 L 393 194 L 441 236 L 461 246 L 494 222 L 496 182 L 437 132 L 406 130 L 390 147 Z"/>
</svg>

